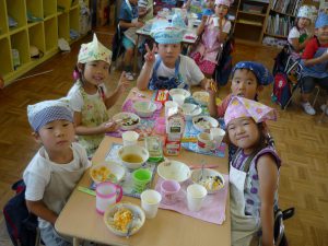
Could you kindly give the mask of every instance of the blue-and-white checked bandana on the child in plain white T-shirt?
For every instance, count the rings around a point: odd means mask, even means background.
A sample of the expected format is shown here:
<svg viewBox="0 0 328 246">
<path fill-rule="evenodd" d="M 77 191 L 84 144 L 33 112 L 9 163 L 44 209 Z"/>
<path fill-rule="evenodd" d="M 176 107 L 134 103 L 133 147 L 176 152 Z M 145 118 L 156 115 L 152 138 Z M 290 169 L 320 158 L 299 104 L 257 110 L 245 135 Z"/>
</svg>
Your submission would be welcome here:
<svg viewBox="0 0 328 246">
<path fill-rule="evenodd" d="M 54 120 L 66 119 L 73 122 L 73 113 L 70 109 L 68 99 L 44 101 L 27 106 L 27 117 L 34 131 Z"/>
</svg>

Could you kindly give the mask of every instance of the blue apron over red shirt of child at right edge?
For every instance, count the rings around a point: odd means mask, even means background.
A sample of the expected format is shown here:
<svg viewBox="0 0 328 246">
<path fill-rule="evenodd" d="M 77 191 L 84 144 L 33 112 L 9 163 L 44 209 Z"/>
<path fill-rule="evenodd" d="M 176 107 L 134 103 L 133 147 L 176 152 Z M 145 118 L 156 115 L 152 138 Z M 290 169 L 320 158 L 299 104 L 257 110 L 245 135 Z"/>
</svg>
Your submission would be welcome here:
<svg viewBox="0 0 328 246">
<path fill-rule="evenodd" d="M 327 52 L 327 47 L 319 47 L 316 54 L 314 55 L 314 58 L 320 57 L 324 52 Z M 304 62 L 302 60 L 302 65 L 304 66 Z M 309 66 L 303 67 L 303 78 L 304 77 L 313 77 L 317 79 L 323 79 L 328 77 L 328 61 Z"/>
</svg>

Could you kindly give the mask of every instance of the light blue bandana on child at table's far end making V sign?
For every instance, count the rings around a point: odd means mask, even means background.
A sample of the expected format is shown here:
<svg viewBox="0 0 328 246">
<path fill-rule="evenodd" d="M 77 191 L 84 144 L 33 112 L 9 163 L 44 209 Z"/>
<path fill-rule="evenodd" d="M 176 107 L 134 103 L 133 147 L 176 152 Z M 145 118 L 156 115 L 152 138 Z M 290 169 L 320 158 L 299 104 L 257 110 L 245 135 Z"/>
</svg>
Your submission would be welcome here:
<svg viewBox="0 0 328 246">
<path fill-rule="evenodd" d="M 179 44 L 184 39 L 186 24 L 181 15 L 174 14 L 172 23 L 167 21 L 154 22 L 151 30 L 151 36 L 159 44 Z"/>
</svg>

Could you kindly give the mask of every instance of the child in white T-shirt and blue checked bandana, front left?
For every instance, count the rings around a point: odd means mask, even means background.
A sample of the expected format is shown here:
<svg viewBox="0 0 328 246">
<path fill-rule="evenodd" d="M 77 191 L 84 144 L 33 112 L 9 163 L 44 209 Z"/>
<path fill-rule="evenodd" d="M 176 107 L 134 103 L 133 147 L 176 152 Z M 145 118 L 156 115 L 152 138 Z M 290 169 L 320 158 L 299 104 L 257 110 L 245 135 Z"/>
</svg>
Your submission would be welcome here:
<svg viewBox="0 0 328 246">
<path fill-rule="evenodd" d="M 67 101 L 68 102 L 68 101 Z M 55 231 L 55 222 L 84 171 L 85 150 L 74 142 L 73 115 L 66 101 L 28 105 L 33 137 L 43 144 L 24 171 L 28 210 L 38 216 L 45 245 L 70 245 Z"/>
</svg>

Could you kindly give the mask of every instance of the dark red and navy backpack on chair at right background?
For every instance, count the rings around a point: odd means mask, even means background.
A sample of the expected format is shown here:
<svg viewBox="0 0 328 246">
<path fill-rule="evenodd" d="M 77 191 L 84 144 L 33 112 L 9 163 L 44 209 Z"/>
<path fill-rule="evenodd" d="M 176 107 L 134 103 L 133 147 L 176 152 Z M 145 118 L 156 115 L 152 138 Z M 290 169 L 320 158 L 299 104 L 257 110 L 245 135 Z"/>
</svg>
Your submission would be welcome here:
<svg viewBox="0 0 328 246">
<path fill-rule="evenodd" d="M 271 99 L 279 104 L 283 109 L 292 96 L 291 86 L 288 77 L 283 72 L 278 72 L 274 75 L 273 92 Z"/>
</svg>

